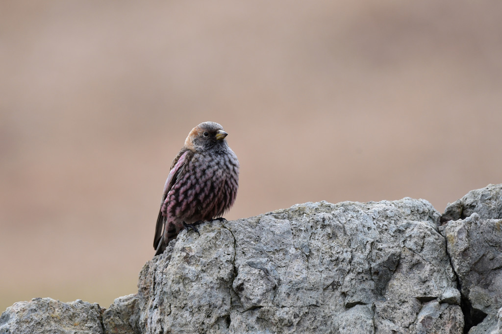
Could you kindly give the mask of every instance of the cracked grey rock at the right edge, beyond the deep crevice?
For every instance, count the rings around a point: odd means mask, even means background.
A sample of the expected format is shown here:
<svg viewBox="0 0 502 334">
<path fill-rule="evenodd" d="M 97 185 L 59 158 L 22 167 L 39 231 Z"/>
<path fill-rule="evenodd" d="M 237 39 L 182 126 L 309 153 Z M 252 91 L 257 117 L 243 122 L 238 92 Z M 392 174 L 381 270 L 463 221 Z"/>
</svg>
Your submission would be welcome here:
<svg viewBox="0 0 502 334">
<path fill-rule="evenodd" d="M 470 333 L 490 332 L 502 307 L 502 186 L 469 192 L 448 205 L 441 226 L 458 276 Z M 488 316 L 487 316 L 488 315 Z M 485 318 L 486 316 L 486 318 Z"/>
</svg>

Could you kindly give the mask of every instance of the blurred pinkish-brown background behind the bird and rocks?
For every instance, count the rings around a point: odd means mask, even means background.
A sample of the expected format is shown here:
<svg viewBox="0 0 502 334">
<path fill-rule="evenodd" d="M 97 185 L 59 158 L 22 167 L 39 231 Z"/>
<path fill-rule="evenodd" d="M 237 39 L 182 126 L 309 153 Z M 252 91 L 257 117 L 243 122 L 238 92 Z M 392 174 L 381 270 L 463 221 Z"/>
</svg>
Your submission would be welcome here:
<svg viewBox="0 0 502 334">
<path fill-rule="evenodd" d="M 502 2 L 2 2 L 0 311 L 137 292 L 186 135 L 239 157 L 227 219 L 502 182 Z"/>
</svg>

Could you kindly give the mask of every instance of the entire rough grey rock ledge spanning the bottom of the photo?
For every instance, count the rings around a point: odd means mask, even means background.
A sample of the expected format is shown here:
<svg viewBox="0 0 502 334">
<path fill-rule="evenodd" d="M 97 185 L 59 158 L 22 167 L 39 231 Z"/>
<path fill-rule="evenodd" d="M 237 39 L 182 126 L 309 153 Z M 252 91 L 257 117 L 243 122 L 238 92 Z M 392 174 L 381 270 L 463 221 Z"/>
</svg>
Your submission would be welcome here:
<svg viewBox="0 0 502 334">
<path fill-rule="evenodd" d="M 16 303 L 0 333 L 502 334 L 501 206 L 490 185 L 441 219 L 405 198 L 208 222 L 145 264 L 137 294 Z"/>
</svg>

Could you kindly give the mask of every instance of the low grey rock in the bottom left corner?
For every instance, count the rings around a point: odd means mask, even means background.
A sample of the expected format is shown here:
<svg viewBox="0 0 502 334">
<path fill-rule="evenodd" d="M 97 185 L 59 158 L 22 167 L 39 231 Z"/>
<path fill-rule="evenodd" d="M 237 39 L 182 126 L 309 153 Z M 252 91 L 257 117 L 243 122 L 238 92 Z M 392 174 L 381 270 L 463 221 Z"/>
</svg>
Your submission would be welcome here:
<svg viewBox="0 0 502 334">
<path fill-rule="evenodd" d="M 0 316 L 0 333 L 103 334 L 102 308 L 80 299 L 63 303 L 34 298 L 8 307 Z"/>
</svg>

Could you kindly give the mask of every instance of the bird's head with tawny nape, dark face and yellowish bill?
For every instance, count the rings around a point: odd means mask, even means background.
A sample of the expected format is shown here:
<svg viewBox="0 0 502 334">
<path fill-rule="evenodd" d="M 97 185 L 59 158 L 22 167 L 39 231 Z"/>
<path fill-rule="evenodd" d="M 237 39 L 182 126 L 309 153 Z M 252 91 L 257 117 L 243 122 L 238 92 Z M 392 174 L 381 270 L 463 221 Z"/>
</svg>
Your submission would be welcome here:
<svg viewBox="0 0 502 334">
<path fill-rule="evenodd" d="M 215 122 L 200 123 L 190 131 L 185 139 L 185 146 L 194 150 L 205 150 L 227 145 L 228 135 L 223 127 Z"/>
</svg>

